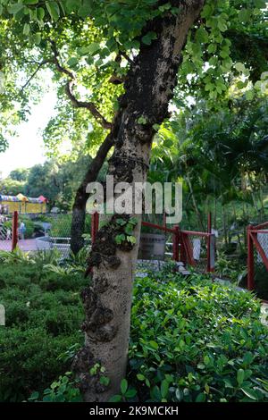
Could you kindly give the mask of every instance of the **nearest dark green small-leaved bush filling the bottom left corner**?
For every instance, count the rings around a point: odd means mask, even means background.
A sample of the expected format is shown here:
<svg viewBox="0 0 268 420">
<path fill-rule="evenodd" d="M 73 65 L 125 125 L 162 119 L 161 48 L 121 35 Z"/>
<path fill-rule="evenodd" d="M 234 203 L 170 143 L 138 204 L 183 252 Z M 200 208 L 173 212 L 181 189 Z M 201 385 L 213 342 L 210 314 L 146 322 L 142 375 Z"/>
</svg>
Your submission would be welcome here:
<svg viewBox="0 0 268 420">
<path fill-rule="evenodd" d="M 44 390 L 69 367 L 58 355 L 78 341 L 80 332 L 54 337 L 42 327 L 1 328 L 0 400 L 21 401 L 34 390 Z"/>
</svg>

